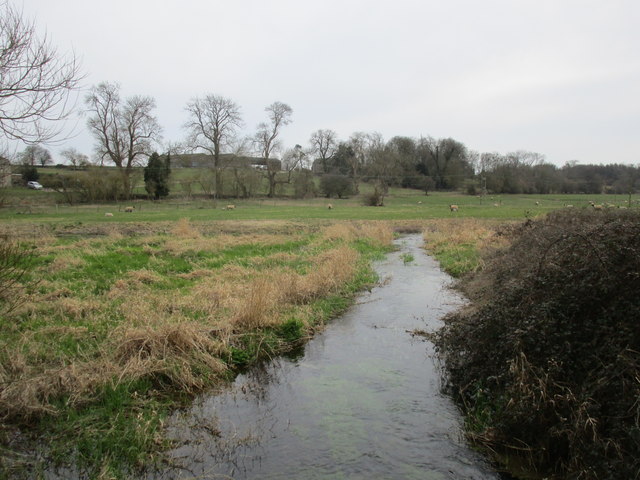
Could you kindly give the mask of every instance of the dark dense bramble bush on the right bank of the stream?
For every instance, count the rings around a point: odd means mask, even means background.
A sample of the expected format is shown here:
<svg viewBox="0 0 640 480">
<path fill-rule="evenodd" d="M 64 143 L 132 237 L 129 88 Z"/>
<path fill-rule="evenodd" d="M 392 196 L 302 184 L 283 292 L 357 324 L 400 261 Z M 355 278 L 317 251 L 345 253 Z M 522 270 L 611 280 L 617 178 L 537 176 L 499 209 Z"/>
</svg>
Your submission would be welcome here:
<svg viewBox="0 0 640 480">
<path fill-rule="evenodd" d="M 640 214 L 505 230 L 437 345 L 471 437 L 563 478 L 640 475 Z"/>
</svg>

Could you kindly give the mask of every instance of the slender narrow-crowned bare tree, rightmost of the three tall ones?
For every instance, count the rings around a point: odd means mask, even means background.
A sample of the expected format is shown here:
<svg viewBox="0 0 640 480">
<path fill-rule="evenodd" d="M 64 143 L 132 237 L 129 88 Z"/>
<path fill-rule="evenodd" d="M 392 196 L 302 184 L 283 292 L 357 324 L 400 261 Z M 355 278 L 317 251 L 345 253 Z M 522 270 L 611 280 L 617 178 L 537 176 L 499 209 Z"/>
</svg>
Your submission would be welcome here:
<svg viewBox="0 0 640 480">
<path fill-rule="evenodd" d="M 274 102 L 264 110 L 269 116 L 269 122 L 263 122 L 258 125 L 254 142 L 260 151 L 260 155 L 264 158 L 267 167 L 265 170 L 267 180 L 269 181 L 269 192 L 267 196 L 273 197 L 277 184 L 276 177 L 280 171 L 281 164 L 280 162 L 270 161 L 271 155 L 281 148 L 278 136 L 280 135 L 282 127 L 291 123 L 293 109 L 286 103 Z M 287 178 L 287 182 L 289 181 L 291 181 L 291 175 Z"/>
</svg>

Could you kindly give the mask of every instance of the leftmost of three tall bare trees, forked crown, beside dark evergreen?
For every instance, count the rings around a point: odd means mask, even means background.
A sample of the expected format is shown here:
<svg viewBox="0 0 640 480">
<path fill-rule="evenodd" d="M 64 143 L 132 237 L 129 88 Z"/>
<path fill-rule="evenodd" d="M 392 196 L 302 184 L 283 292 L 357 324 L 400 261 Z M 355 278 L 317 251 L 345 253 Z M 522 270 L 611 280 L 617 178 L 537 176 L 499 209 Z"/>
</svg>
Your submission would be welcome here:
<svg viewBox="0 0 640 480">
<path fill-rule="evenodd" d="M 131 174 L 139 159 L 149 156 L 162 129 L 152 112 L 152 97 L 133 96 L 120 99 L 117 83 L 101 83 L 91 89 L 85 99 L 89 119 L 87 125 L 96 139 L 101 164 L 105 160 L 118 167 L 125 195 L 131 195 Z"/>
</svg>

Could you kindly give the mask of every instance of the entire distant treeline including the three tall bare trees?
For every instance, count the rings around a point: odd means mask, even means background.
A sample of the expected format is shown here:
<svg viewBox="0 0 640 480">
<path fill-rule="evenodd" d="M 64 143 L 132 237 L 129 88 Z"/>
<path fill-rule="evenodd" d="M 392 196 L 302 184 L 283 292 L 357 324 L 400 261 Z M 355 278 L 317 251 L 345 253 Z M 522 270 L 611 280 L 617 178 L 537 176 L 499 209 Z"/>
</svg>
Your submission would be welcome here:
<svg viewBox="0 0 640 480">
<path fill-rule="evenodd" d="M 193 98 L 186 105 L 186 137 L 164 146 L 162 128 L 154 116 L 151 97 L 120 97 L 117 84 L 101 83 L 85 98 L 87 127 L 95 139 L 92 162 L 75 149 L 61 152 L 73 171 L 43 179 L 69 202 L 109 201 L 131 198 L 139 191 L 141 167 L 147 174 L 145 188 L 150 197 L 170 193 L 190 197 L 196 193 L 212 197 L 324 195 L 346 197 L 359 193 L 361 182 L 374 188 L 366 203 L 382 205 L 389 187 L 456 190 L 472 195 L 518 193 L 633 193 L 640 180 L 639 168 L 627 165 L 578 165 L 557 167 L 544 155 L 517 151 L 508 154 L 469 150 L 453 138 L 395 136 L 385 140 L 379 133 L 356 132 L 340 140 L 336 132 L 320 129 L 307 142 L 287 148 L 282 130 L 292 123 L 293 109 L 282 102 L 265 107 L 266 119 L 250 134 L 242 134 L 241 109 L 219 95 Z M 194 166 L 194 175 L 157 175 L 155 151 L 171 155 L 174 166 Z M 162 155 L 161 155 L 162 156 Z M 155 158 L 155 159 L 154 159 Z M 34 167 L 53 163 L 49 152 L 31 145 L 19 156 L 25 181 L 34 178 Z M 99 166 L 113 165 L 116 174 Z M 319 177 L 319 178 L 318 178 Z"/>
</svg>

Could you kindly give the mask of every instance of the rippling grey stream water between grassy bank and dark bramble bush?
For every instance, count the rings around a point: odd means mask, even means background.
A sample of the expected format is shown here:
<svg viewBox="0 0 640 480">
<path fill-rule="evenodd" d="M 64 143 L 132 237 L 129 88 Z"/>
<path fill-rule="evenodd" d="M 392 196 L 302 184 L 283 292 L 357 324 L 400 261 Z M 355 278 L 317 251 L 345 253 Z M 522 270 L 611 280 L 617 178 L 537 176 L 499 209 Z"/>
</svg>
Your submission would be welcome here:
<svg viewBox="0 0 640 480">
<path fill-rule="evenodd" d="M 172 418 L 177 466 L 153 478 L 500 478 L 462 439 L 433 345 L 410 334 L 462 302 L 421 245 L 398 240 L 375 266 L 380 285 L 303 351 Z"/>
</svg>

